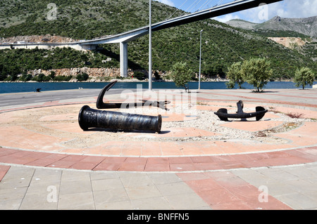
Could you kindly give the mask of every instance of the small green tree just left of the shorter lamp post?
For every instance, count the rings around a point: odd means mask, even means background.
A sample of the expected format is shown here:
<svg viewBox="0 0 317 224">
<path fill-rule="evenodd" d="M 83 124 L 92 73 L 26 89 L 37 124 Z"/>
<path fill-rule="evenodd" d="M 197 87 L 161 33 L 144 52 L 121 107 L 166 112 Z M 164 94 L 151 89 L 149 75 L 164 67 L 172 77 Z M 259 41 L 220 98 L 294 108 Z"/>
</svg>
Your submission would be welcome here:
<svg viewBox="0 0 317 224">
<path fill-rule="evenodd" d="M 186 62 L 176 62 L 171 77 L 176 86 L 184 87 L 185 91 L 189 92 L 188 82 L 194 77 L 194 72 L 187 68 Z"/>
</svg>

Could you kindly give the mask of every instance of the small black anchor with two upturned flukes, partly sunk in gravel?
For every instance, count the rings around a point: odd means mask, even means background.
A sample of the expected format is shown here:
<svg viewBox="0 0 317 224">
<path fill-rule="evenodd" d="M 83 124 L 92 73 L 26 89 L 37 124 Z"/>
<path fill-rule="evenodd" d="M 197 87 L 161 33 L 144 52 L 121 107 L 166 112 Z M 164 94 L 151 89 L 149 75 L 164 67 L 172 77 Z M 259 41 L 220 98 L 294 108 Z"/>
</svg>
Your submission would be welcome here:
<svg viewBox="0 0 317 224">
<path fill-rule="evenodd" d="M 217 112 L 215 112 L 215 114 L 222 121 L 228 121 L 228 118 L 247 119 L 251 117 L 256 117 L 256 121 L 259 121 L 262 119 L 262 117 L 264 117 L 266 112 L 268 112 L 268 110 L 264 109 L 263 107 L 256 107 L 256 112 L 243 112 L 243 102 L 242 100 L 239 100 L 237 103 L 237 112 L 235 114 L 228 114 L 228 110 L 225 108 L 219 109 Z"/>
</svg>

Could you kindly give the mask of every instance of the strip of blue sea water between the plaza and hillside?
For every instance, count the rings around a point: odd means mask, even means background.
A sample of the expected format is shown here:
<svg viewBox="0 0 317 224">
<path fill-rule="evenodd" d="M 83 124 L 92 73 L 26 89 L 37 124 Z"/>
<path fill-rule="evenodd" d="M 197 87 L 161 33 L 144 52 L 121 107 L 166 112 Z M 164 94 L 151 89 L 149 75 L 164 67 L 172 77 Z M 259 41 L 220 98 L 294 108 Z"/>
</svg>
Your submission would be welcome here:
<svg viewBox="0 0 317 224">
<path fill-rule="evenodd" d="M 41 91 L 58 91 L 66 89 L 77 88 L 104 88 L 108 82 L 1 82 L 0 93 L 21 93 L 21 92 L 34 92 L 37 88 L 41 88 Z M 317 84 L 315 81 L 313 84 Z M 140 82 L 118 82 L 113 88 L 137 88 L 137 85 L 142 85 L 142 88 L 149 88 L 149 83 Z M 175 86 L 174 82 L 153 82 L 152 88 L 179 88 Z M 198 82 L 193 81 L 189 83 L 190 89 L 197 89 Z M 202 81 L 201 89 L 225 89 L 225 81 Z M 235 86 L 235 88 L 238 88 Z M 242 88 L 254 89 L 253 86 L 244 83 Z M 270 81 L 266 84 L 267 88 L 298 88 L 292 81 Z M 306 88 L 312 88 L 306 86 Z"/>
</svg>

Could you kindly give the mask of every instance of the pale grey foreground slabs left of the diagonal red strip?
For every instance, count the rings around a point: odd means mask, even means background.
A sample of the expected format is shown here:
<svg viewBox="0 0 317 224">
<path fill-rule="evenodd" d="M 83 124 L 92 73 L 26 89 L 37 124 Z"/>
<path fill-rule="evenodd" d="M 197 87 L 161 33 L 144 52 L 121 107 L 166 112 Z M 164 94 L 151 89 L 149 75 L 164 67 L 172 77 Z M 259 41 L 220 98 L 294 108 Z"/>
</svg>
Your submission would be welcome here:
<svg viewBox="0 0 317 224">
<path fill-rule="evenodd" d="M 95 173 L 11 166 L 0 182 L 0 195 L 0 209 L 208 207 L 204 200 L 172 173 L 165 178 L 156 173 Z M 184 203 L 185 200 L 192 203 Z"/>
</svg>

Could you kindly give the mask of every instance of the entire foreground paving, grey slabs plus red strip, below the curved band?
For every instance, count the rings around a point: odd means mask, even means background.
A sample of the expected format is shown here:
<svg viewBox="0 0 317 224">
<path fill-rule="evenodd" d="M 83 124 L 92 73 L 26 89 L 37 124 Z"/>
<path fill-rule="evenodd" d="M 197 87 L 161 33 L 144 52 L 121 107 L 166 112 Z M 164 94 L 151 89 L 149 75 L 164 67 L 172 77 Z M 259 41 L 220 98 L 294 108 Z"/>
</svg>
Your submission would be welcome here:
<svg viewBox="0 0 317 224">
<path fill-rule="evenodd" d="M 293 174 L 307 170 L 310 174 L 304 177 Z M 96 173 L 11 166 L 0 182 L 0 208 L 317 209 L 316 178 L 311 179 L 316 172 L 316 163 L 204 173 Z"/>
</svg>

